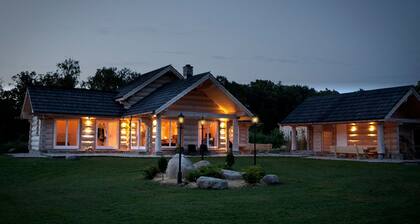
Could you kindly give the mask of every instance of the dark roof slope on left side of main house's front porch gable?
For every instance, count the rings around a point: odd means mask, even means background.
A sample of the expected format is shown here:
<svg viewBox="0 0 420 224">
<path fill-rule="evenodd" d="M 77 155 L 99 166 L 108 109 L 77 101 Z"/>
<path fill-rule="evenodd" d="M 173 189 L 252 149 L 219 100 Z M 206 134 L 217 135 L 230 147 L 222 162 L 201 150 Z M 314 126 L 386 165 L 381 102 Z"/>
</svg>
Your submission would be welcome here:
<svg viewBox="0 0 420 224">
<path fill-rule="evenodd" d="M 188 79 L 175 80 L 168 83 L 131 106 L 125 114 L 133 115 L 153 112 L 206 75 L 210 75 L 210 73 L 202 73 Z"/>
</svg>

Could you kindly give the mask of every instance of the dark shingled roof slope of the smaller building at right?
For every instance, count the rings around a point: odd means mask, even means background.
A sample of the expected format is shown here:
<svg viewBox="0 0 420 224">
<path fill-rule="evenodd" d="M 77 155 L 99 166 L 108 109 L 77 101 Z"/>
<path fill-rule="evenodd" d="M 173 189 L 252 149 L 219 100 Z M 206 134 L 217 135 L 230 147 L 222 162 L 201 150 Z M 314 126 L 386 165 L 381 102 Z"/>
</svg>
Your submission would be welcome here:
<svg viewBox="0 0 420 224">
<path fill-rule="evenodd" d="M 281 123 L 320 123 L 384 119 L 412 86 L 311 97 Z"/>
</svg>

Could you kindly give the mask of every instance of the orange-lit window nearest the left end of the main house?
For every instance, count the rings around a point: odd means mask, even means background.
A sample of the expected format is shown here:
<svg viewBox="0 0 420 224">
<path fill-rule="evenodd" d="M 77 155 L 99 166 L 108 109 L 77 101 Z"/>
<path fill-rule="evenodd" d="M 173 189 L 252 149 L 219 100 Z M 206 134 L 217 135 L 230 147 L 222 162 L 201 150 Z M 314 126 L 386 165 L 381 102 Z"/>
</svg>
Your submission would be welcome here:
<svg viewBox="0 0 420 224">
<path fill-rule="evenodd" d="M 78 148 L 79 146 L 79 120 L 55 120 L 54 148 Z"/>
</svg>

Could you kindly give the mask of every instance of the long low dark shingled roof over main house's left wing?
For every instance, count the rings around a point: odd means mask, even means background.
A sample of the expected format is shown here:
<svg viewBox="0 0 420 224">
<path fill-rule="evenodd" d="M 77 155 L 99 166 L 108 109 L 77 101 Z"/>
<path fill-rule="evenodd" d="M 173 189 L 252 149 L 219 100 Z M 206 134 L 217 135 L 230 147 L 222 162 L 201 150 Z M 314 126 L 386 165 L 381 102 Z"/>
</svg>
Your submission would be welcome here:
<svg viewBox="0 0 420 224">
<path fill-rule="evenodd" d="M 115 102 L 116 92 L 86 89 L 28 88 L 34 113 L 60 113 L 120 116 L 122 106 Z"/>
</svg>

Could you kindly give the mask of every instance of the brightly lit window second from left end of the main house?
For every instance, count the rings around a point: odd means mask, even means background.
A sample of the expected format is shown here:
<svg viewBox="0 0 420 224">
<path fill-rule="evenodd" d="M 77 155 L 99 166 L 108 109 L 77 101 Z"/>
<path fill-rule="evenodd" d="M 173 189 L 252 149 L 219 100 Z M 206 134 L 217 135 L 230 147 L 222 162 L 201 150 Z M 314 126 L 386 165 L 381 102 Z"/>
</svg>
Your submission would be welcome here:
<svg viewBox="0 0 420 224">
<path fill-rule="evenodd" d="M 96 148 L 117 149 L 118 148 L 118 121 L 97 120 L 96 121 Z"/>
</svg>

